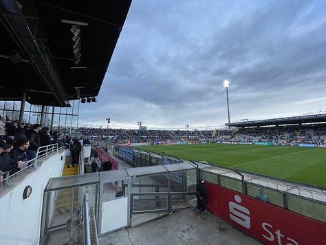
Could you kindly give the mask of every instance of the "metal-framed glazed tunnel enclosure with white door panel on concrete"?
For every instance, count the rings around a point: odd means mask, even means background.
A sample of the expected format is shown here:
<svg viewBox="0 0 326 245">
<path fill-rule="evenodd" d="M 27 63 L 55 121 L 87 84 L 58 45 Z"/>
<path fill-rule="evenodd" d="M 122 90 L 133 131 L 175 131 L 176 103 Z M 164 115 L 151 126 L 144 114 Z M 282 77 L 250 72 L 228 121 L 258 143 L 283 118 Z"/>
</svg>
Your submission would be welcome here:
<svg viewBox="0 0 326 245">
<path fill-rule="evenodd" d="M 94 213 L 96 229 L 93 237 L 100 237 L 127 226 L 135 226 L 162 217 L 177 209 L 195 206 L 197 167 L 195 164 L 169 164 L 83 175 L 52 178 L 44 190 L 41 244 L 56 239 L 56 231 L 67 227 L 67 241 L 81 233 L 80 213 Z M 61 203 L 60 193 L 68 191 L 71 212 L 56 213 Z M 89 212 L 83 211 L 85 193 Z M 96 234 L 94 234 L 96 233 Z"/>
</svg>

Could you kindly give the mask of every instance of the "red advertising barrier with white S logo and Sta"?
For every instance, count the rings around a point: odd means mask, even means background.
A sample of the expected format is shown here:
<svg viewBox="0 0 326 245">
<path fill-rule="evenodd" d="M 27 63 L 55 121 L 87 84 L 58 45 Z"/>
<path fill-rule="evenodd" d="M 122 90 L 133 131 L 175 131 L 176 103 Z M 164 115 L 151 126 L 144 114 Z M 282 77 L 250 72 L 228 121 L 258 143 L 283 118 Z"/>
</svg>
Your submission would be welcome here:
<svg viewBox="0 0 326 245">
<path fill-rule="evenodd" d="M 207 209 L 264 244 L 326 244 L 326 224 L 206 182 Z"/>
</svg>

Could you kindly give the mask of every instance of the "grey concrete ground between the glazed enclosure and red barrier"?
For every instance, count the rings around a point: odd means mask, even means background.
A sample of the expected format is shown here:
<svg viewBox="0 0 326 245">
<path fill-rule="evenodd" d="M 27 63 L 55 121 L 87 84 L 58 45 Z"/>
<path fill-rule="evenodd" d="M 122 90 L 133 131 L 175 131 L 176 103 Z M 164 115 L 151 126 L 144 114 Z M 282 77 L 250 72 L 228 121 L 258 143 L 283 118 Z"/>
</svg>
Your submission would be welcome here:
<svg viewBox="0 0 326 245">
<path fill-rule="evenodd" d="M 100 245 L 263 244 L 212 213 L 193 208 L 99 237 Z"/>
</svg>

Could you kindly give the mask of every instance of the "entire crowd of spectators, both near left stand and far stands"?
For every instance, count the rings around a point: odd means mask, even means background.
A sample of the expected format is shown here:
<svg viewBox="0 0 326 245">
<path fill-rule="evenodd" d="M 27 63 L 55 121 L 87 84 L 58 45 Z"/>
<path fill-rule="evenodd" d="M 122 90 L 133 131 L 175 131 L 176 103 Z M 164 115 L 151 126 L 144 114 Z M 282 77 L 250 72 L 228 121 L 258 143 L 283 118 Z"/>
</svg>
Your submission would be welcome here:
<svg viewBox="0 0 326 245">
<path fill-rule="evenodd" d="M 4 127 L 1 127 L 4 125 Z M 58 131 L 36 123 L 21 123 L 18 120 L 0 118 L 0 180 L 3 173 L 15 173 L 27 167 L 27 162 L 36 157 L 39 147 L 69 144 L 73 162 L 78 162 L 83 144 L 101 145 L 125 143 L 149 143 L 190 141 L 199 142 L 274 142 L 326 145 L 326 125 L 292 125 L 279 127 L 254 127 L 235 130 L 135 130 L 91 129 L 80 127 L 79 139 L 62 136 Z M 104 144 L 104 145 L 105 145 Z"/>
</svg>

